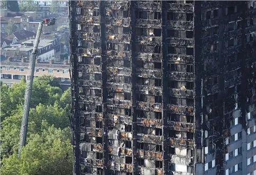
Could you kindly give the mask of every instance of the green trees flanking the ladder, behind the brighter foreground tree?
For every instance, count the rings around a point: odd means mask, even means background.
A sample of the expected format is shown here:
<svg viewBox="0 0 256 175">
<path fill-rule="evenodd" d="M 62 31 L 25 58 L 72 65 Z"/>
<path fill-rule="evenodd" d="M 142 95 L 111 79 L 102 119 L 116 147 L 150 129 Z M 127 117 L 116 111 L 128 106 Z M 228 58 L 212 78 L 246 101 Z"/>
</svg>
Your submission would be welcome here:
<svg viewBox="0 0 256 175">
<path fill-rule="evenodd" d="M 52 86 L 57 85 L 57 86 Z M 30 105 L 28 137 L 42 132 L 42 121 L 63 129 L 69 126 L 70 89 L 62 93 L 56 77 L 35 77 Z M 17 151 L 25 93 L 25 80 L 12 88 L 1 85 L 1 157 Z"/>
</svg>

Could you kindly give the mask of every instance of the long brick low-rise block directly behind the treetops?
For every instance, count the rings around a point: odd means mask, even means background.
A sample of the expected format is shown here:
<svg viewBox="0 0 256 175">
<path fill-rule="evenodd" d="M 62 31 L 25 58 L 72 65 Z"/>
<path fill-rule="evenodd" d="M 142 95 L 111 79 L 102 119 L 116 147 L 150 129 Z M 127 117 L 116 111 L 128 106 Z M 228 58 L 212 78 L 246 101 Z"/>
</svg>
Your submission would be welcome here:
<svg viewBox="0 0 256 175">
<path fill-rule="evenodd" d="M 26 59 L 21 61 L 5 59 L 1 61 L 1 81 L 8 87 L 13 83 L 19 83 L 22 76 L 28 75 L 29 62 Z M 61 84 L 61 89 L 66 90 L 70 87 L 69 63 L 40 62 L 36 60 L 34 76 L 53 75 L 56 76 Z"/>
</svg>

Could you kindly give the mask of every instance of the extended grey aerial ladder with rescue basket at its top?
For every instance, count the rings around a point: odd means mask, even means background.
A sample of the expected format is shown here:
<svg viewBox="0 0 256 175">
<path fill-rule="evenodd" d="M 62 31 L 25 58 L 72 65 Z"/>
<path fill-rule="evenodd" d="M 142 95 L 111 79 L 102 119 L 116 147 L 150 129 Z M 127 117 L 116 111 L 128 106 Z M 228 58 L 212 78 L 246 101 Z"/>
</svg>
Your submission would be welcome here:
<svg viewBox="0 0 256 175">
<path fill-rule="evenodd" d="M 19 142 L 19 151 L 18 151 L 19 157 L 21 154 L 22 147 L 24 147 L 26 144 L 26 133 L 28 131 L 28 121 L 29 121 L 29 107 L 30 107 L 32 85 L 33 85 L 33 79 L 34 79 L 35 58 L 36 58 L 36 52 L 38 50 L 38 44 L 40 42 L 42 27 L 43 25 L 49 26 L 54 24 L 55 24 L 55 18 L 52 18 L 52 19 L 47 18 L 47 19 L 44 19 L 42 22 L 40 22 L 38 26 L 38 32 L 36 33 L 36 37 L 35 37 L 33 51 L 29 57 L 29 67 L 28 67 L 28 74 L 26 76 L 26 89 L 25 89 L 25 96 L 24 96 L 22 121 L 21 121 L 20 142 Z"/>
</svg>

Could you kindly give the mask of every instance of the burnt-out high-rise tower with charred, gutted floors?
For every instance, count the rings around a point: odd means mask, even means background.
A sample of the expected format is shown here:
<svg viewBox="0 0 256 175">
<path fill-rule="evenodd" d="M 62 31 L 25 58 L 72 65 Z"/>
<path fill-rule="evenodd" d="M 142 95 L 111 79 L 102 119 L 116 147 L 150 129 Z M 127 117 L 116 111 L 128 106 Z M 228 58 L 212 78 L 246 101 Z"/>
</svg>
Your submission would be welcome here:
<svg viewBox="0 0 256 175">
<path fill-rule="evenodd" d="M 70 1 L 75 174 L 256 174 L 253 1 Z"/>
</svg>

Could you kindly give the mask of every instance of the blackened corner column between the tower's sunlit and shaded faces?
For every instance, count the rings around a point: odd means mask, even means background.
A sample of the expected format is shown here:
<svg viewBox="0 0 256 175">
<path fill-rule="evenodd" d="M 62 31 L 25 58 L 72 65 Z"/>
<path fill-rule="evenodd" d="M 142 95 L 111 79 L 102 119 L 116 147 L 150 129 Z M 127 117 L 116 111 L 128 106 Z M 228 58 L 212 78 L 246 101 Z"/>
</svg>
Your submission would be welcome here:
<svg viewBox="0 0 256 175">
<path fill-rule="evenodd" d="M 203 101 L 202 101 L 202 1 L 195 1 L 194 10 L 194 38 L 195 38 L 195 48 L 194 48 L 194 122 L 195 122 L 195 147 L 194 147 L 194 166 L 195 174 L 204 173 L 204 147 L 202 147 L 202 122 L 203 122 Z"/>
</svg>

